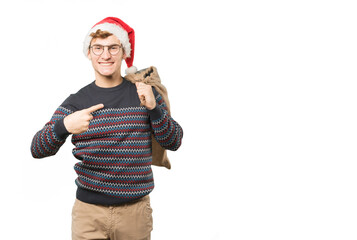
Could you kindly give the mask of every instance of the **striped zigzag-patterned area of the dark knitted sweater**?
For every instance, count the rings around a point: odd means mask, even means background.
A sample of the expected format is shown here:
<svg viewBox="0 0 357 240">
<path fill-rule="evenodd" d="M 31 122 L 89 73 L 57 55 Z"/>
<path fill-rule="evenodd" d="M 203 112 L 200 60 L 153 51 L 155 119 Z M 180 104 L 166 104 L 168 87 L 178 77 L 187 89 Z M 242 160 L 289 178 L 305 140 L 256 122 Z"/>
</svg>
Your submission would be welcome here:
<svg viewBox="0 0 357 240">
<path fill-rule="evenodd" d="M 160 113 L 157 119 L 150 119 L 148 110 L 141 106 L 103 108 L 92 113 L 86 132 L 72 135 L 73 155 L 80 160 L 74 166 L 79 188 L 123 201 L 138 199 L 153 190 L 151 134 L 161 146 L 173 151 L 180 147 L 183 135 L 159 94 L 156 101 Z M 60 106 L 35 135 L 31 144 L 35 158 L 56 154 L 65 142 L 56 132 L 64 128 L 63 119 L 72 112 Z"/>
</svg>

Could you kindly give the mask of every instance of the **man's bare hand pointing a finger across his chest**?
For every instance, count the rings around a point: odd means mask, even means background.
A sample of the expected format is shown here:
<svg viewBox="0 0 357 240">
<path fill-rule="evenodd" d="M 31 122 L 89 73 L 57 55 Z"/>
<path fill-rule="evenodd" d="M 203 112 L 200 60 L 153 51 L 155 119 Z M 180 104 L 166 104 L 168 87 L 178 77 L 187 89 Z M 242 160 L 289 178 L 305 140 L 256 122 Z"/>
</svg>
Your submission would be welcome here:
<svg viewBox="0 0 357 240">
<path fill-rule="evenodd" d="M 103 104 L 98 104 L 90 108 L 76 111 L 63 119 L 67 131 L 72 134 L 84 133 L 88 130 L 89 122 L 93 119 L 92 113 L 103 108 Z"/>
</svg>

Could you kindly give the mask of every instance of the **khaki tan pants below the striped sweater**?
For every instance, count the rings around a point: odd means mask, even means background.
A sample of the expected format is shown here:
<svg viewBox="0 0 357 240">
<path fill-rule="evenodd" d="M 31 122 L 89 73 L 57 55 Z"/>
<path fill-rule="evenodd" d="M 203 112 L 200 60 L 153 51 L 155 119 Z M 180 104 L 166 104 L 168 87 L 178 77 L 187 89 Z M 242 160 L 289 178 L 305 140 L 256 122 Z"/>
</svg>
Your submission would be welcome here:
<svg viewBox="0 0 357 240">
<path fill-rule="evenodd" d="M 101 206 L 76 199 L 72 210 L 72 240 L 150 240 L 150 197 L 120 206 Z"/>
</svg>

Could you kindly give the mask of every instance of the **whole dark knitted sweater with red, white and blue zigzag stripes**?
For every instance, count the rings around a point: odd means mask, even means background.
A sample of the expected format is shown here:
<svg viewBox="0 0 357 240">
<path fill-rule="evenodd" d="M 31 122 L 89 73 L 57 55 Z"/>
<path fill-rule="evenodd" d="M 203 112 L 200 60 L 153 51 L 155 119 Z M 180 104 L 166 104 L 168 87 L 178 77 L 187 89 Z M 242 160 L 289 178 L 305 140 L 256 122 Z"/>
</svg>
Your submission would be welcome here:
<svg viewBox="0 0 357 240">
<path fill-rule="evenodd" d="M 136 86 L 123 79 L 113 88 L 95 82 L 71 94 L 55 111 L 51 120 L 36 133 L 31 152 L 35 158 L 57 153 L 70 135 L 63 119 L 78 110 L 103 103 L 92 113 L 89 129 L 72 135 L 73 155 L 80 162 L 74 169 L 77 198 L 93 204 L 115 205 L 133 201 L 154 188 L 151 170 L 151 133 L 169 150 L 181 145 L 183 131 L 167 112 L 160 94 L 153 88 L 156 107 L 140 106 Z"/>
</svg>

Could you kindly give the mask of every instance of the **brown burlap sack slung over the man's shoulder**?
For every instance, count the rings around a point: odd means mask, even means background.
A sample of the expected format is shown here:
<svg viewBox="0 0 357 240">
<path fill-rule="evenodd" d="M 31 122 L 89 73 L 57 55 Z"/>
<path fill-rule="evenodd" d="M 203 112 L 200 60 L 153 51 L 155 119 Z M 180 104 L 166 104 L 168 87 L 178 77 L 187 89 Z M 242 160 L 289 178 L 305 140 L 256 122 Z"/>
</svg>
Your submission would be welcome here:
<svg viewBox="0 0 357 240">
<path fill-rule="evenodd" d="M 169 102 L 167 90 L 166 87 L 161 84 L 161 79 L 155 67 L 151 66 L 149 68 L 139 70 L 136 73 L 127 74 L 124 78 L 132 83 L 143 82 L 145 84 L 153 86 L 155 90 L 163 98 L 167 106 L 167 111 L 169 115 L 171 115 L 170 102 Z M 143 105 L 145 99 L 142 98 L 140 99 L 140 101 L 141 101 L 141 105 Z M 152 138 L 152 165 L 171 169 L 171 164 L 169 158 L 167 157 L 166 149 L 160 146 L 160 144 L 156 141 L 153 134 L 151 135 L 151 138 Z"/>
</svg>

